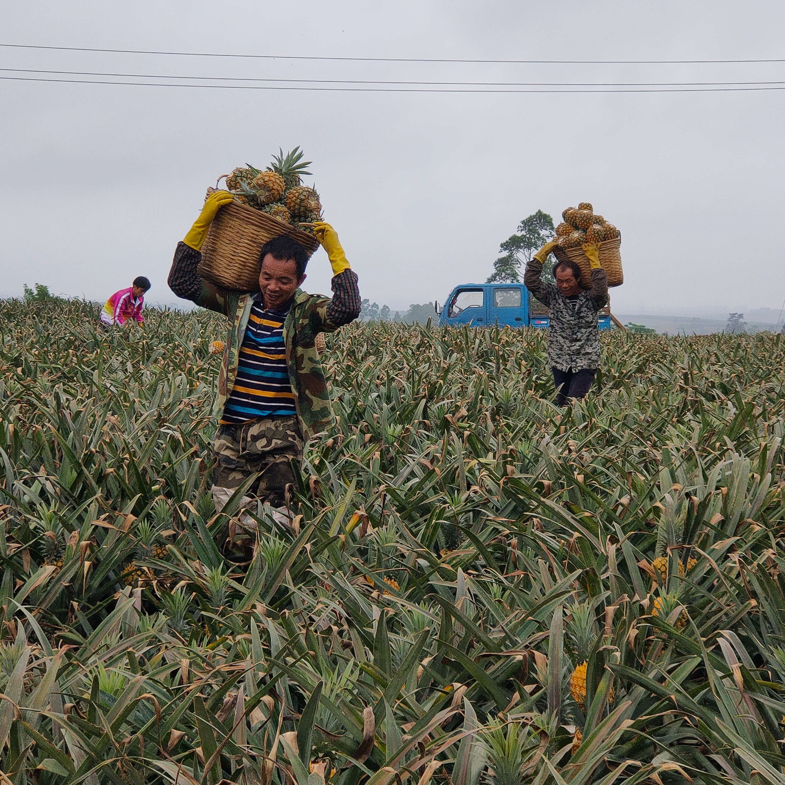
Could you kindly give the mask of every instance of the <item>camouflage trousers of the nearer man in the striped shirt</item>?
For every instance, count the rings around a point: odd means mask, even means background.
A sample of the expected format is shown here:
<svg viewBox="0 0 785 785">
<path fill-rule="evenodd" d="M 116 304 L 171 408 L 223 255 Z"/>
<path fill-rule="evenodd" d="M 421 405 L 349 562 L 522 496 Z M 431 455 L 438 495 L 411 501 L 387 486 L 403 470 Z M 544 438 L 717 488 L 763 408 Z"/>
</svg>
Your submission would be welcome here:
<svg viewBox="0 0 785 785">
<path fill-rule="evenodd" d="M 272 507 L 286 503 L 287 485 L 295 481 L 294 463 L 299 467 L 302 460 L 303 438 L 297 417 L 262 417 L 242 425 L 219 425 L 213 447 L 214 491 L 223 488 L 231 495 L 248 477 L 261 472 L 246 495 Z"/>
</svg>

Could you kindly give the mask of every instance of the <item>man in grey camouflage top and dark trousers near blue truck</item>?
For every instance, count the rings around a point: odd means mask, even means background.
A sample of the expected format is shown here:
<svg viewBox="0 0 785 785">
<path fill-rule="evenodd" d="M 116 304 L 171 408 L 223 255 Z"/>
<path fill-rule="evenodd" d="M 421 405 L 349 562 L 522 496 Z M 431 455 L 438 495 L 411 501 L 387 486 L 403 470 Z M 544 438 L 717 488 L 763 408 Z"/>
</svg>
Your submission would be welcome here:
<svg viewBox="0 0 785 785">
<path fill-rule="evenodd" d="M 542 283 L 542 265 L 557 246 L 546 243 L 529 260 L 524 284 L 550 311 L 548 362 L 556 384 L 558 406 L 589 392 L 600 365 L 600 330 L 597 315 L 608 304 L 608 276 L 600 265 L 601 243 L 585 243 L 583 253 L 591 265 L 591 288 L 580 285 L 581 268 L 575 261 L 558 261 L 553 268 L 556 285 Z"/>
</svg>

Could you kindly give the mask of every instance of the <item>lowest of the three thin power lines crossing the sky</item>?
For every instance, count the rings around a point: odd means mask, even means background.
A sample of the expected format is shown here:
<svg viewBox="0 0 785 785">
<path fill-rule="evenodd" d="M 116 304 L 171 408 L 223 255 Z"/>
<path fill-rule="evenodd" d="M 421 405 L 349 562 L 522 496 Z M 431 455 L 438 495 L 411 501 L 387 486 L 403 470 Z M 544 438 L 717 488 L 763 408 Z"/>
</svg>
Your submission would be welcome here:
<svg viewBox="0 0 785 785">
<path fill-rule="evenodd" d="M 291 85 L 201 85 L 177 84 L 176 82 L 113 82 L 99 79 L 49 79 L 36 76 L 0 76 L 0 79 L 12 82 L 56 82 L 68 85 L 126 85 L 138 87 L 192 87 L 201 89 L 233 89 L 233 90 L 298 90 L 333 93 L 743 93 L 761 90 L 783 90 L 781 86 L 761 87 L 644 87 L 628 89 L 441 89 L 433 87 L 309 87 Z"/>
</svg>

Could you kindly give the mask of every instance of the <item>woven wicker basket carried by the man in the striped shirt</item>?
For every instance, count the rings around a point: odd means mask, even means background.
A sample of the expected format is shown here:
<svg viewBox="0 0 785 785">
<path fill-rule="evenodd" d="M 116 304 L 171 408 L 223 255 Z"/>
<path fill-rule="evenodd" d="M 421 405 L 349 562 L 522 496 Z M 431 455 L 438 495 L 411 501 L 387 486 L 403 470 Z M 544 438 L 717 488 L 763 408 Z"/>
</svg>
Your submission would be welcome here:
<svg viewBox="0 0 785 785">
<path fill-rule="evenodd" d="M 207 232 L 199 275 L 227 289 L 257 291 L 261 246 L 280 235 L 289 235 L 297 240 L 308 251 L 309 257 L 319 247 L 319 241 L 313 235 L 253 207 L 239 202 L 225 204 L 218 210 Z"/>
</svg>

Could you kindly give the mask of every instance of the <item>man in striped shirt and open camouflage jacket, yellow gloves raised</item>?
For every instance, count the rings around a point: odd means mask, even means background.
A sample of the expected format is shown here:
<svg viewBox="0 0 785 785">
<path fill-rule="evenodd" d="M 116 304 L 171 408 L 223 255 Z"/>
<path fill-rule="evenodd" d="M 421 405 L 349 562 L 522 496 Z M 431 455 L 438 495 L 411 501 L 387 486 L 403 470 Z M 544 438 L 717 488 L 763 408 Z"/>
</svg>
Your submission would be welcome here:
<svg viewBox="0 0 785 785">
<path fill-rule="evenodd" d="M 200 249 L 217 211 L 231 201 L 225 191 L 207 197 L 191 231 L 177 243 L 169 286 L 177 297 L 231 320 L 214 407 L 219 417 L 213 476 L 217 511 L 259 473 L 241 503 L 248 507 L 252 498 L 267 502 L 274 519 L 289 524 L 292 462 L 299 466 L 305 440 L 333 419 L 316 335 L 360 316 L 360 290 L 337 233 L 323 221 L 314 225 L 314 234 L 333 268 L 332 299 L 300 289 L 309 254 L 287 235 L 262 247 L 257 291 L 245 294 L 203 279 L 196 269 Z"/>
</svg>

